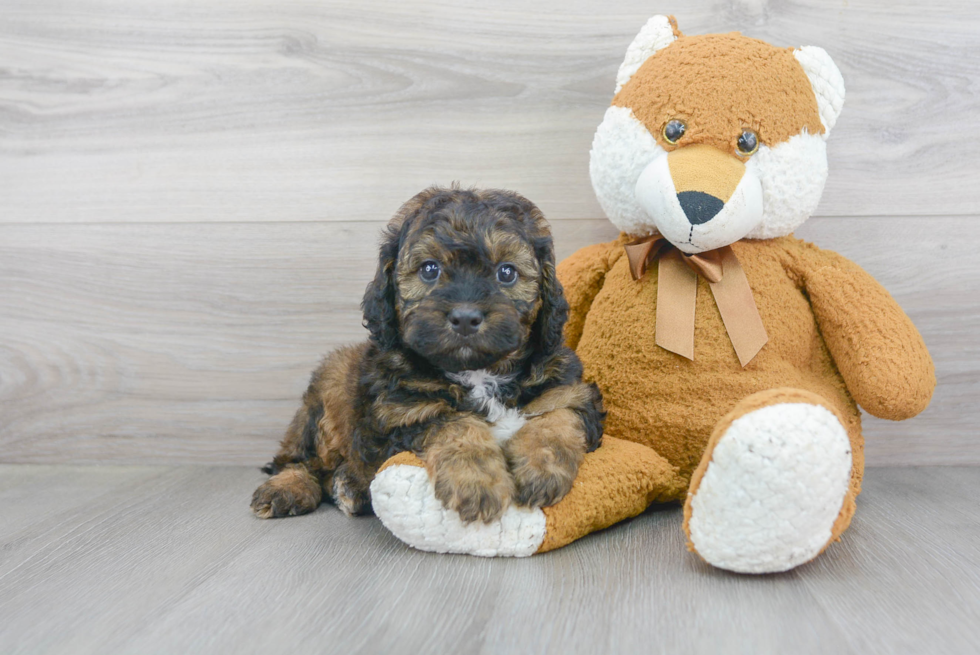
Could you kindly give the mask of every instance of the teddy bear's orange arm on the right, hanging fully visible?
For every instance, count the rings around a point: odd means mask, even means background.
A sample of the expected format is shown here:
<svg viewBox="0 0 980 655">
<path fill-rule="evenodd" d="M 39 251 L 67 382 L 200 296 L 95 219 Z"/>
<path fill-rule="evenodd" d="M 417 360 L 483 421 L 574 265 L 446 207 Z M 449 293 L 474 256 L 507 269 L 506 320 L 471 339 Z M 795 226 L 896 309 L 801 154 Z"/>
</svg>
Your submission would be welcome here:
<svg viewBox="0 0 980 655">
<path fill-rule="evenodd" d="M 818 251 L 804 274 L 820 331 L 848 390 L 893 421 L 924 410 L 936 387 L 922 335 L 891 294 L 860 266 Z"/>
</svg>

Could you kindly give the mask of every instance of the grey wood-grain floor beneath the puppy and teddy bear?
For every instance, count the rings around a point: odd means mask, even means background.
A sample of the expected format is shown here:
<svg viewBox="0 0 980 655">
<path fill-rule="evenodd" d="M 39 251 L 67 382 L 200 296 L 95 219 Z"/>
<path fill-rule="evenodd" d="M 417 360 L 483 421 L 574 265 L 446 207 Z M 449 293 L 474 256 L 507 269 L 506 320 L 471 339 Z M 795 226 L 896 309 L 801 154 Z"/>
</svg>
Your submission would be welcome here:
<svg viewBox="0 0 980 655">
<path fill-rule="evenodd" d="M 844 540 L 761 577 L 676 508 L 525 560 L 332 507 L 259 521 L 240 467 L 0 466 L 2 653 L 971 653 L 980 468 L 870 469 Z"/>
</svg>

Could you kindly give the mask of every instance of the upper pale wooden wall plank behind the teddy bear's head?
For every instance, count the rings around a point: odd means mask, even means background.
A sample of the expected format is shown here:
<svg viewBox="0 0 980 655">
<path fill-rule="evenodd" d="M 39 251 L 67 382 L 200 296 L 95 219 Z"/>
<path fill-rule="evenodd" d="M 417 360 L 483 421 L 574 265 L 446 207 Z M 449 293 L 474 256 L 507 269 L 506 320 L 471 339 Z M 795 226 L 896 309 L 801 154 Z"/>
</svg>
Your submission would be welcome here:
<svg viewBox="0 0 980 655">
<path fill-rule="evenodd" d="M 597 216 L 592 134 L 671 12 L 834 57 L 820 215 L 977 213 L 974 0 L 3 0 L 0 221 L 378 220 L 454 179 Z"/>
</svg>

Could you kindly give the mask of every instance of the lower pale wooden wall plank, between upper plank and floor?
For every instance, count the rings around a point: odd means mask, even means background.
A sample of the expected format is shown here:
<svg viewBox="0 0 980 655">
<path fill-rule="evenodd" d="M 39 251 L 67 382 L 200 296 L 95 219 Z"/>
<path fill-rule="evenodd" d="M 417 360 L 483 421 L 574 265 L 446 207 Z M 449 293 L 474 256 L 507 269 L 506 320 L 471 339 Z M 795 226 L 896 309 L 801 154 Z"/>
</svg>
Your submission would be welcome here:
<svg viewBox="0 0 980 655">
<path fill-rule="evenodd" d="M 0 461 L 265 462 L 318 358 L 365 336 L 381 226 L 0 226 Z M 560 257 L 615 236 L 555 224 Z M 822 218 L 800 236 L 876 276 L 937 363 L 923 415 L 867 421 L 869 464 L 980 463 L 980 221 Z"/>
</svg>

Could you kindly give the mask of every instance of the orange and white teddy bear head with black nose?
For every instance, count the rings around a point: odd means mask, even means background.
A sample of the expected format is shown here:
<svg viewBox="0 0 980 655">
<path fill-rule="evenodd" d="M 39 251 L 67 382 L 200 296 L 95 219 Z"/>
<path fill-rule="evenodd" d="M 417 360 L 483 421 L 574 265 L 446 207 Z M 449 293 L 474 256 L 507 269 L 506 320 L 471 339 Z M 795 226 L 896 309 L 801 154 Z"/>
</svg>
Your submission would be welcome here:
<svg viewBox="0 0 980 655">
<path fill-rule="evenodd" d="M 620 230 L 699 253 L 791 233 L 827 180 L 844 81 L 822 49 L 654 16 L 626 51 L 589 173 Z"/>
</svg>

